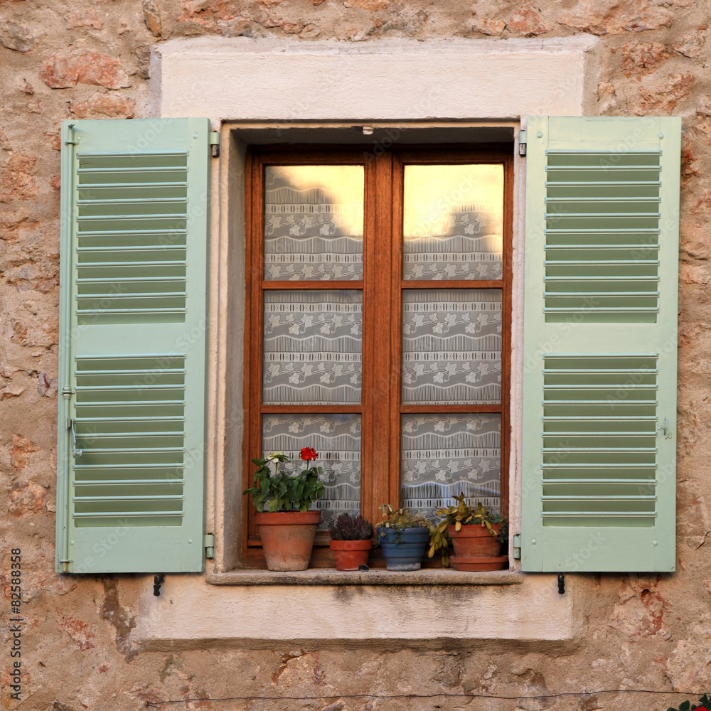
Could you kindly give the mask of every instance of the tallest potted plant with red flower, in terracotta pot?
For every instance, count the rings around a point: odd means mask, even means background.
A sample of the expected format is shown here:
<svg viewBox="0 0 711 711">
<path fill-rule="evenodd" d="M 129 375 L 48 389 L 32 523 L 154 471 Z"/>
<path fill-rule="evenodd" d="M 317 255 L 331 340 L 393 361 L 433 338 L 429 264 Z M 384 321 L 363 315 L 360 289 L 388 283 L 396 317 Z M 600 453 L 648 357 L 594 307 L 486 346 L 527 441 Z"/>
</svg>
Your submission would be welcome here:
<svg viewBox="0 0 711 711">
<path fill-rule="evenodd" d="M 254 486 L 244 493 L 252 494 L 257 508 L 257 528 L 262 539 L 269 570 L 306 570 L 314 547 L 316 527 L 321 511 L 310 511 L 311 504 L 324 493 L 319 481 L 320 466 L 309 466 L 319 456 L 311 447 L 301 449 L 306 469 L 296 476 L 279 471 L 279 464 L 289 461 L 280 451 L 266 459 L 252 459 L 257 465 Z M 274 474 L 269 464 L 274 463 Z M 266 508 L 266 510 L 265 510 Z"/>
</svg>

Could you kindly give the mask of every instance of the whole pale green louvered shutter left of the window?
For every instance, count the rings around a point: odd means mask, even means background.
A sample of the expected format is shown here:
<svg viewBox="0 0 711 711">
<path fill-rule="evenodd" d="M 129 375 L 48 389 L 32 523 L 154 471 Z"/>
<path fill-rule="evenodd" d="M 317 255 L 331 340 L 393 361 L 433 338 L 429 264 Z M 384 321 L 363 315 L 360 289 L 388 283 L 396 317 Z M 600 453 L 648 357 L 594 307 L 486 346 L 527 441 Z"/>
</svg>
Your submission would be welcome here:
<svg viewBox="0 0 711 711">
<path fill-rule="evenodd" d="M 58 571 L 203 569 L 209 130 L 63 124 Z"/>
</svg>

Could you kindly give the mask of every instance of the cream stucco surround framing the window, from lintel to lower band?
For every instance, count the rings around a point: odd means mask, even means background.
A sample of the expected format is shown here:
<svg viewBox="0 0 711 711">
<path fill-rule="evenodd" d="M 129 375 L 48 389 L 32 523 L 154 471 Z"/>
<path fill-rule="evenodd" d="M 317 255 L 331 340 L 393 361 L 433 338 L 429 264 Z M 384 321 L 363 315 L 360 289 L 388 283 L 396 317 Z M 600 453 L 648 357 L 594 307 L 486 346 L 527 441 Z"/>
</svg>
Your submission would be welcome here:
<svg viewBox="0 0 711 711">
<path fill-rule="evenodd" d="M 513 133 L 533 114 L 594 114 L 595 38 L 378 41 L 199 38 L 156 47 L 149 106 L 156 117 L 207 116 L 220 131 L 210 196 L 207 521 L 215 560 L 185 577 L 171 599 L 146 596 L 144 643 L 223 640 L 508 638 L 565 640 L 579 627 L 572 594 L 555 576 L 512 570 L 471 578 L 451 571 L 345 574 L 238 570 L 242 489 L 243 165 L 247 143 L 284 136 L 338 142 L 353 126 L 421 129 L 429 142 L 470 132 Z M 522 122 L 523 119 L 523 122 Z M 412 135 L 412 134 L 411 134 Z M 461 135 L 461 134 L 460 134 Z M 476 135 L 480 138 L 476 139 Z M 363 136 L 359 137 L 361 140 Z M 290 139 L 289 139 L 290 140 Z M 514 146 L 515 149 L 515 146 Z M 520 522 L 520 383 L 523 363 L 523 163 L 515 150 L 511 528 Z M 446 576 L 446 577 L 445 577 Z M 476 582 L 471 585 L 471 582 Z M 304 584 L 305 583 L 305 584 Z M 454 583 L 454 584 L 453 584 Z M 506 588 L 499 587 L 508 583 Z M 513 584 L 511 584 L 513 583 Z M 237 584 L 239 587 L 233 587 Z M 402 587 L 405 585 L 405 587 Z M 417 586 L 417 587 L 413 587 Z M 412 592 L 417 590 L 417 594 Z M 505 594 L 502 594 L 504 593 Z M 261 619 L 283 620 L 264 626 Z M 440 615 L 433 610 L 445 611 Z M 415 624 L 417 623 L 417 624 Z"/>
</svg>

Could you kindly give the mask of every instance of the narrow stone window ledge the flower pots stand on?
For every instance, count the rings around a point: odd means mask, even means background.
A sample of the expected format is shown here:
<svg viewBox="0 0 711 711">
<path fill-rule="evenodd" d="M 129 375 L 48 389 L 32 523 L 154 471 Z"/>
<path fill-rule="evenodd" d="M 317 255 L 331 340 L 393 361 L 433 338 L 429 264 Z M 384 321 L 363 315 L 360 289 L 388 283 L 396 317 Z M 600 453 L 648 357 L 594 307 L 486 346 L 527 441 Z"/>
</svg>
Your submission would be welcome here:
<svg viewBox="0 0 711 711">
<path fill-rule="evenodd" d="M 294 572 L 272 570 L 230 570 L 208 572 L 213 585 L 517 585 L 523 574 L 512 570 L 459 572 L 456 570 L 412 570 L 392 572 L 342 572 L 335 568 L 312 568 Z"/>
</svg>

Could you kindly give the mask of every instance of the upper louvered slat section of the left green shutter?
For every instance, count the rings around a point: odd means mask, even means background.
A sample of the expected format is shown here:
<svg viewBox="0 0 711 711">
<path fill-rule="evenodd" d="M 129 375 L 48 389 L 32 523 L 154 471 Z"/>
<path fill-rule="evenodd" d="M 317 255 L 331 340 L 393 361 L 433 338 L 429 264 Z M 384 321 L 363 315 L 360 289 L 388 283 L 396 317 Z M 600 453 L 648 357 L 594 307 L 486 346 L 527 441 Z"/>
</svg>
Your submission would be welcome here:
<svg viewBox="0 0 711 711">
<path fill-rule="evenodd" d="M 187 154 L 80 153 L 78 165 L 79 323 L 182 321 Z M 156 171 L 166 170 L 175 181 L 156 186 Z M 130 183 L 124 183 L 126 171 L 132 171 Z M 124 230 L 134 235 L 130 245 Z"/>
</svg>

